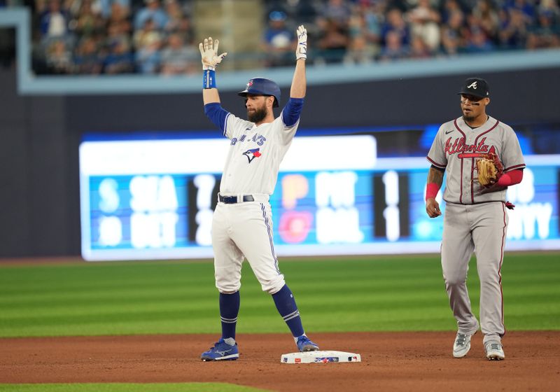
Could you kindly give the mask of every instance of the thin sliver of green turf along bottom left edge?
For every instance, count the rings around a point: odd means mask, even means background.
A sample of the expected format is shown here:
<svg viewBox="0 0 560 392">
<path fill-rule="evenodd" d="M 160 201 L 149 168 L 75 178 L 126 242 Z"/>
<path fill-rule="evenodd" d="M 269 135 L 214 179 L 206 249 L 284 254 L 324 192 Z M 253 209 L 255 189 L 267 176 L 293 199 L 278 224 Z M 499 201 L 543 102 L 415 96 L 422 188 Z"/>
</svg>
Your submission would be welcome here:
<svg viewBox="0 0 560 392">
<path fill-rule="evenodd" d="M 0 392 L 258 392 L 265 389 L 223 383 L 188 384 L 0 384 Z"/>
</svg>

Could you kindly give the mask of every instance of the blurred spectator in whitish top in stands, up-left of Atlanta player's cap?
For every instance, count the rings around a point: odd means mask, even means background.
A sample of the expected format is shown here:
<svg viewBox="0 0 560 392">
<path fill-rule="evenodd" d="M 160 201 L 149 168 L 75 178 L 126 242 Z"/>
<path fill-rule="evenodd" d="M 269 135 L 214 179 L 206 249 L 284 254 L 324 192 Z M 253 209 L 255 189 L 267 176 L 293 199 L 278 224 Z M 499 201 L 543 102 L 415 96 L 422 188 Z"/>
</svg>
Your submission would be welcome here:
<svg viewBox="0 0 560 392">
<path fill-rule="evenodd" d="M 435 52 L 440 47 L 441 15 L 430 4 L 430 0 L 418 0 L 407 14 L 412 36 L 421 38 L 426 48 Z M 416 43 L 418 46 L 419 43 Z"/>
</svg>

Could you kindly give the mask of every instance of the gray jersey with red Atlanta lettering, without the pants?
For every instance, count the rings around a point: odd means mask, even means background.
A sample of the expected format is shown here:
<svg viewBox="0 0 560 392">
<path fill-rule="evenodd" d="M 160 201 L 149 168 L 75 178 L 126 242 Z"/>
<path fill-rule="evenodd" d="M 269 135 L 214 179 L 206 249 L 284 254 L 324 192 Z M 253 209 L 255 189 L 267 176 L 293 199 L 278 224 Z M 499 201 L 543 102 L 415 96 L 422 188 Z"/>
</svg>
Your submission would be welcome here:
<svg viewBox="0 0 560 392">
<path fill-rule="evenodd" d="M 443 199 L 458 204 L 505 202 L 505 188 L 480 194 L 477 160 L 495 153 L 504 172 L 524 169 L 525 162 L 514 130 L 495 118 L 488 117 L 482 126 L 472 129 L 462 117 L 444 123 L 437 131 L 428 160 L 447 174 Z"/>
</svg>

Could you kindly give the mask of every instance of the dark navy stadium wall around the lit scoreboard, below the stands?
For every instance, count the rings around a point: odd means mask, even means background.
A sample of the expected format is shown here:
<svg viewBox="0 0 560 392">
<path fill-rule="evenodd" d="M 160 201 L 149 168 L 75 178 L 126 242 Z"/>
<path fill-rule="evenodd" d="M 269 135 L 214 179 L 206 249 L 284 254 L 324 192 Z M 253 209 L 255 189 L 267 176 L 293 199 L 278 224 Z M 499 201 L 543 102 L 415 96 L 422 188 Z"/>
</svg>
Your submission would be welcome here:
<svg viewBox="0 0 560 392">
<path fill-rule="evenodd" d="M 304 128 L 442 123 L 458 116 L 456 90 L 470 73 L 309 86 Z M 558 123 L 560 68 L 477 72 L 491 85 L 491 116 Z M 90 132 L 215 132 L 196 93 L 20 94 L 15 69 L 0 70 L 0 257 L 80 254 L 78 146 Z M 246 80 L 239 80 L 239 90 Z M 219 85 L 219 80 L 218 80 Z M 288 97 L 288 87 L 282 89 Z M 237 116 L 235 91 L 222 102 Z M 285 99 L 284 99 L 285 102 Z"/>
</svg>

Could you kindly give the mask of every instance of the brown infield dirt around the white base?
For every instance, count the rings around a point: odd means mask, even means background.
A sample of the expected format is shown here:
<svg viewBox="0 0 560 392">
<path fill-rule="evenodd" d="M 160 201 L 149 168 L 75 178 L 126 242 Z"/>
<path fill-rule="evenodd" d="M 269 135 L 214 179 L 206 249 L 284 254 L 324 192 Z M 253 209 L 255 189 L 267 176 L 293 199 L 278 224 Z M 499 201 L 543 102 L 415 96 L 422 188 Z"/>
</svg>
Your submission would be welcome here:
<svg viewBox="0 0 560 392">
<path fill-rule="evenodd" d="M 451 356 L 453 332 L 313 333 L 325 350 L 360 353 L 361 363 L 280 363 L 289 334 L 239 335 L 240 358 L 200 360 L 215 335 L 0 339 L 0 383 L 227 382 L 271 391 L 558 391 L 560 332 L 507 332 L 506 359 Z"/>
</svg>

